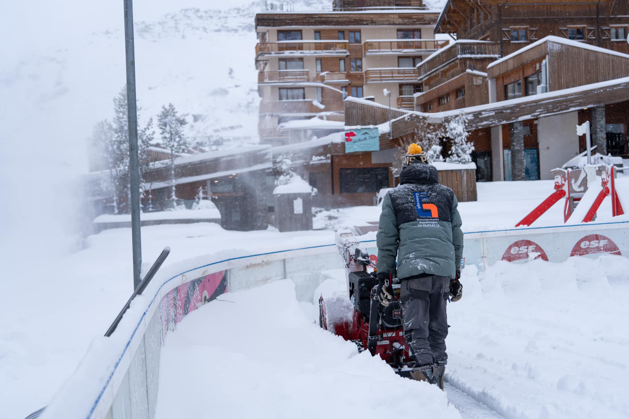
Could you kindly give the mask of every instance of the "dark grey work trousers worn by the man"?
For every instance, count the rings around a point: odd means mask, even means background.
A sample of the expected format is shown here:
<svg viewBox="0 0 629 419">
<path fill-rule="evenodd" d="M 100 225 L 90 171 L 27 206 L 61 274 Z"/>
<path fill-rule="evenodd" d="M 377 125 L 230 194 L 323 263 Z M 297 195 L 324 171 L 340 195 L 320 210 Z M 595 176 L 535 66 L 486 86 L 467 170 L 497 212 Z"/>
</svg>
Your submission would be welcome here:
<svg viewBox="0 0 629 419">
<path fill-rule="evenodd" d="M 418 366 L 440 362 L 445 364 L 445 337 L 448 320 L 445 313 L 450 295 L 449 276 L 425 276 L 402 279 L 400 300 L 404 337 L 410 357 Z"/>
</svg>

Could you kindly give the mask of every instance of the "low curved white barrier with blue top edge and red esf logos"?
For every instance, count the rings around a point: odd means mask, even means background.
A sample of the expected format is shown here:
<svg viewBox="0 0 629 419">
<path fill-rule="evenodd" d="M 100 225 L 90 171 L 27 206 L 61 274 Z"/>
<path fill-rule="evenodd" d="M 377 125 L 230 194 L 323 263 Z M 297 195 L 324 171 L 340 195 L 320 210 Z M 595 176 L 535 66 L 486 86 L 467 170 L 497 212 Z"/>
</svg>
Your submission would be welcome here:
<svg viewBox="0 0 629 419">
<path fill-rule="evenodd" d="M 375 241 L 365 240 L 364 245 L 372 248 Z M 342 268 L 335 244 L 264 254 L 237 253 L 223 251 L 164 269 L 143 295 L 133 300 L 116 332 L 92 342 L 42 418 L 152 419 L 158 403 L 162 343 L 188 313 L 226 291 L 282 278 L 295 282 L 298 300 L 310 301 L 324 279 L 321 271 Z M 629 255 L 629 222 L 465 234 L 465 264 L 479 268 L 499 260 L 563 261 L 569 256 L 596 253 Z M 174 275 L 177 271 L 180 273 Z"/>
</svg>

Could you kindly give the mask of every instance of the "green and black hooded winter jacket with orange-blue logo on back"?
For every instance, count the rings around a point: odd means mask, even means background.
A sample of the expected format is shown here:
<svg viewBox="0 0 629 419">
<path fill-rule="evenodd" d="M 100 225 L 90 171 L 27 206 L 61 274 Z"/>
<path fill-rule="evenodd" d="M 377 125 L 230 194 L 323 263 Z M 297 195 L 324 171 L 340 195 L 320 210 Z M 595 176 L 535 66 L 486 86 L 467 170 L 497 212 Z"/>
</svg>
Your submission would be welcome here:
<svg viewBox="0 0 629 419">
<path fill-rule="evenodd" d="M 400 185 L 382 201 L 377 269 L 398 278 L 420 274 L 454 278 L 463 257 L 463 232 L 452 189 L 439 184 L 435 166 L 403 168 Z"/>
</svg>

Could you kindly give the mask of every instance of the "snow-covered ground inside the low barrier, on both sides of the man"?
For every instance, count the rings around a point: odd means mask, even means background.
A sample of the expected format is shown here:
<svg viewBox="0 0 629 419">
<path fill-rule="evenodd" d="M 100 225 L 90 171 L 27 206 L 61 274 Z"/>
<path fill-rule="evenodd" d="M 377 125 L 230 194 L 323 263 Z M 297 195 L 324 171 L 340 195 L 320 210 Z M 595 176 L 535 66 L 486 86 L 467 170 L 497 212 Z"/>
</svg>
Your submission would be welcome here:
<svg viewBox="0 0 629 419">
<path fill-rule="evenodd" d="M 343 271 L 320 290 L 345 290 Z M 169 334 L 156 418 L 626 418 L 629 260 L 501 262 L 464 270 L 448 307 L 446 391 L 399 378 L 320 329 L 291 280 L 218 300 Z"/>
</svg>

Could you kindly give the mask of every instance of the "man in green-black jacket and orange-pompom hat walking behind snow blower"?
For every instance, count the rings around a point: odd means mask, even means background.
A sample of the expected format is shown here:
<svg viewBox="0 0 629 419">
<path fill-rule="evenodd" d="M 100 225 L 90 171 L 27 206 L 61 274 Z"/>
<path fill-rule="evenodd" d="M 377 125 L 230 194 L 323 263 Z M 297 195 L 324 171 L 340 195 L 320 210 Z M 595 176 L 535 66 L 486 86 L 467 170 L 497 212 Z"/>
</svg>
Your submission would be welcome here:
<svg viewBox="0 0 629 419">
<path fill-rule="evenodd" d="M 460 300 L 463 290 L 461 217 L 454 192 L 439 184 L 437 168 L 417 144 L 409 146 L 399 180 L 382 201 L 377 295 L 385 306 L 393 300 L 397 269 L 404 337 L 415 362 L 411 376 L 443 389 L 446 303 L 448 296 Z"/>
</svg>

